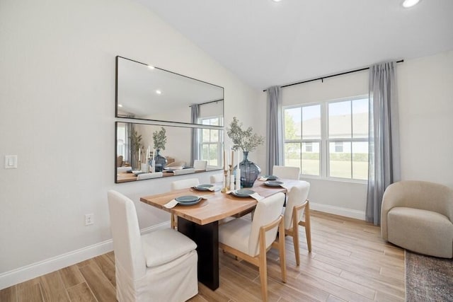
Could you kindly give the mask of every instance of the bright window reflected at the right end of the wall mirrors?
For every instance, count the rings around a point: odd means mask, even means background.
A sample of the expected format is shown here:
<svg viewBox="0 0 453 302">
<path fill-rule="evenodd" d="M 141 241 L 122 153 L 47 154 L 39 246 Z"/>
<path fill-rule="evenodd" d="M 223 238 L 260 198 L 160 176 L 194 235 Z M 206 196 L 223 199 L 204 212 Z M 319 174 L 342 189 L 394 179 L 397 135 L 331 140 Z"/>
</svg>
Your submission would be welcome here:
<svg viewBox="0 0 453 302">
<path fill-rule="evenodd" d="M 219 126 L 222 117 L 207 117 L 200 119 L 200 124 Z M 199 153 L 202 161 L 207 161 L 211 167 L 222 167 L 222 144 L 223 136 L 221 130 L 199 129 Z"/>
</svg>

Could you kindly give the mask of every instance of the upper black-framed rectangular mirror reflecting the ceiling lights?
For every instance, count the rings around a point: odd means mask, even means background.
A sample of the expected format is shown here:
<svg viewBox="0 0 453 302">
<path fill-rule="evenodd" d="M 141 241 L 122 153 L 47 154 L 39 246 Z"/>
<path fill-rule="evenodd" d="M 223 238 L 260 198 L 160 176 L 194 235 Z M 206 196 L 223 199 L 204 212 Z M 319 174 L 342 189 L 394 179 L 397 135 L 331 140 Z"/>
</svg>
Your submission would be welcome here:
<svg viewBox="0 0 453 302">
<path fill-rule="evenodd" d="M 115 93 L 116 117 L 200 124 L 224 116 L 223 87 L 120 56 Z"/>
</svg>

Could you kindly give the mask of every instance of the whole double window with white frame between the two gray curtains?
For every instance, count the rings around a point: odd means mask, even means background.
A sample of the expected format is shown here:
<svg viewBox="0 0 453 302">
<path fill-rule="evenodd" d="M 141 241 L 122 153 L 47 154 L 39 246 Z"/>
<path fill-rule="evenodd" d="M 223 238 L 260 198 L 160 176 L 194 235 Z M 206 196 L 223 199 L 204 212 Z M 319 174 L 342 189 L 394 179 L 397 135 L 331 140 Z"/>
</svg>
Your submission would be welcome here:
<svg viewBox="0 0 453 302">
<path fill-rule="evenodd" d="M 367 180 L 368 98 L 283 109 L 284 165 L 302 175 Z"/>
</svg>

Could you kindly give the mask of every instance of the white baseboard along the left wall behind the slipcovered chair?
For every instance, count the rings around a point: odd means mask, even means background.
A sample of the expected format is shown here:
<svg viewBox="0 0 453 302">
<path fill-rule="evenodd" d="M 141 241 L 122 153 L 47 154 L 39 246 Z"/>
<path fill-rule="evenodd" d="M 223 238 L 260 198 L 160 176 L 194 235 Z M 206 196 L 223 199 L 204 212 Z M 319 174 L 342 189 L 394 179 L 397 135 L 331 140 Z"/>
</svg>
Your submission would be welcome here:
<svg viewBox="0 0 453 302">
<path fill-rule="evenodd" d="M 167 221 L 164 223 L 159 223 L 156 226 L 144 228 L 140 232 L 149 233 L 160 228 L 168 228 L 169 225 L 170 222 Z M 31 265 L 26 265 L 25 267 L 19 267 L 18 269 L 4 272 L 0 274 L 0 289 L 5 289 L 6 287 L 13 286 L 14 284 L 40 277 L 44 274 L 49 274 L 50 272 L 55 272 L 58 269 L 69 267 L 70 265 L 75 265 L 76 263 L 82 262 L 84 260 L 88 260 L 98 255 L 105 254 L 106 252 L 110 252 L 111 250 L 113 250 L 113 240 L 109 239 L 101 243 L 87 246 L 86 248 L 73 250 L 71 252 L 49 258 L 47 260 L 42 260 Z"/>
</svg>

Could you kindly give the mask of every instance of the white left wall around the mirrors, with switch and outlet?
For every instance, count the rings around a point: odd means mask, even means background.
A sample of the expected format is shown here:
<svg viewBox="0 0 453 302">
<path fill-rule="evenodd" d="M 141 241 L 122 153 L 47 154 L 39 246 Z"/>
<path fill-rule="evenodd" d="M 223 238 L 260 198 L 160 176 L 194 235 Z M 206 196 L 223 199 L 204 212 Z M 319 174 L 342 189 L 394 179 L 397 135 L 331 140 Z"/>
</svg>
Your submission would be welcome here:
<svg viewBox="0 0 453 302">
<path fill-rule="evenodd" d="M 141 228 L 168 222 L 139 197 L 171 180 L 114 184 L 116 55 L 223 86 L 226 123 L 245 118 L 259 92 L 134 1 L 0 8 L 1 289 L 110 248 L 107 190 L 132 197 Z M 7 154 L 18 169 L 3 169 Z M 84 226 L 88 213 L 93 226 Z"/>
</svg>

